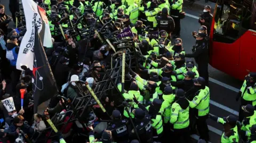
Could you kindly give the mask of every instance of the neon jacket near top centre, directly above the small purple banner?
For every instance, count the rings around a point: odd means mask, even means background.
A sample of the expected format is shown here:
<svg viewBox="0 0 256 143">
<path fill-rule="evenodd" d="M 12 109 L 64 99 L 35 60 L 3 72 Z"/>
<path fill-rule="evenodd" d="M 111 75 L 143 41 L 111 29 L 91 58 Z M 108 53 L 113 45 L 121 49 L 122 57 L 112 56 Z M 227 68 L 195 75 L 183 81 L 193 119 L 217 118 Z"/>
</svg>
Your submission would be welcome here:
<svg viewBox="0 0 256 143">
<path fill-rule="evenodd" d="M 131 4 L 127 9 L 126 13 L 130 15 L 130 21 L 132 24 L 135 24 L 139 17 L 139 7 L 137 4 Z"/>
</svg>

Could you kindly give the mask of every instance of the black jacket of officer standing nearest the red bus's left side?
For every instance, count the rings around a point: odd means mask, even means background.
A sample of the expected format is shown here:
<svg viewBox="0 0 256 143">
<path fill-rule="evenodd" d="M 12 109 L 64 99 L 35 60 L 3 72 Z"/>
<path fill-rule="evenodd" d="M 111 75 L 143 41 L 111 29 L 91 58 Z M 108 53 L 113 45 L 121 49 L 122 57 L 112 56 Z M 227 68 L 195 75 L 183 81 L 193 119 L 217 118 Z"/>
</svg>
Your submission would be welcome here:
<svg viewBox="0 0 256 143">
<path fill-rule="evenodd" d="M 192 54 L 185 54 L 185 57 L 194 57 L 197 64 L 208 63 L 208 44 L 205 39 L 197 40 L 195 51 Z"/>
</svg>

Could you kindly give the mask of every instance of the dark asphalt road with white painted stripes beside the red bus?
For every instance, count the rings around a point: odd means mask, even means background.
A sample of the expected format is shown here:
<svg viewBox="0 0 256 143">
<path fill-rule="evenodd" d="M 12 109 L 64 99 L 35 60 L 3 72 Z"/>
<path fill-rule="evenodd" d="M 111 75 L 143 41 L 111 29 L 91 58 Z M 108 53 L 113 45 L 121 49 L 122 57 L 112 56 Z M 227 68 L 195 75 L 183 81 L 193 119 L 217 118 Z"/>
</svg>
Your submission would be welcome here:
<svg viewBox="0 0 256 143">
<path fill-rule="evenodd" d="M 2 0 L 1 4 L 5 5 L 5 13 L 11 15 L 9 11 L 9 1 Z M 212 7 L 212 9 L 213 8 L 214 7 Z M 191 36 L 191 32 L 197 31 L 199 28 L 197 16 L 202 13 L 203 7 L 186 7 L 185 4 L 184 11 L 187 16 L 185 19 L 181 20 L 181 38 L 186 52 L 191 53 L 191 48 L 195 44 L 195 39 Z M 11 23 L 10 26 L 13 27 L 14 23 Z M 210 113 L 219 117 L 228 116 L 230 114 L 238 115 L 239 102 L 235 101 L 235 97 L 242 85 L 242 81 L 230 77 L 229 75 L 212 68 L 210 65 L 209 75 L 211 91 Z M 210 142 L 220 142 L 223 129 L 222 125 L 211 121 L 211 119 L 208 119 L 207 122 L 210 129 Z M 191 137 L 198 139 L 198 135 L 196 134 L 193 134 Z"/>
</svg>

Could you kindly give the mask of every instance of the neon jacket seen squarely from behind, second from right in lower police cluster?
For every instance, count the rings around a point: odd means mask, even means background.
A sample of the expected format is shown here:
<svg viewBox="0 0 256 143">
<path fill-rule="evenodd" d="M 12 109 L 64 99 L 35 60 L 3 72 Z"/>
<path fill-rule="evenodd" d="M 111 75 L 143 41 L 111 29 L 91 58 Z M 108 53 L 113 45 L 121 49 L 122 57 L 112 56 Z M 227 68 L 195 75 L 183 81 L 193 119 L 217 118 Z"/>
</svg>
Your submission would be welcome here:
<svg viewBox="0 0 256 143">
<path fill-rule="evenodd" d="M 180 105 L 175 102 L 172 104 L 171 120 L 174 129 L 184 129 L 189 126 L 189 106 L 183 110 Z"/>
</svg>

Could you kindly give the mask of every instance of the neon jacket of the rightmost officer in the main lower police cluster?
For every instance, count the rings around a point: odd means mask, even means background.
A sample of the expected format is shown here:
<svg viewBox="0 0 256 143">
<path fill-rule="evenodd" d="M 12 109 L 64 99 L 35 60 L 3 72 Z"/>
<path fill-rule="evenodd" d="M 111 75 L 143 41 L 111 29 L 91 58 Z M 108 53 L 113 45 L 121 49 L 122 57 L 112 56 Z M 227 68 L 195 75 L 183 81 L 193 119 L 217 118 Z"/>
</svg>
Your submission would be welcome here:
<svg viewBox="0 0 256 143">
<path fill-rule="evenodd" d="M 198 110 L 198 116 L 205 116 L 209 114 L 210 104 L 210 90 L 209 87 L 205 86 L 205 89 L 200 89 L 196 92 L 196 96 L 190 102 L 190 108 L 196 108 Z"/>
</svg>

